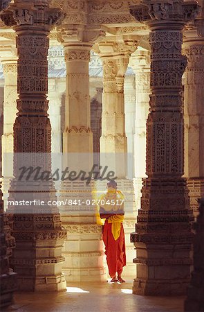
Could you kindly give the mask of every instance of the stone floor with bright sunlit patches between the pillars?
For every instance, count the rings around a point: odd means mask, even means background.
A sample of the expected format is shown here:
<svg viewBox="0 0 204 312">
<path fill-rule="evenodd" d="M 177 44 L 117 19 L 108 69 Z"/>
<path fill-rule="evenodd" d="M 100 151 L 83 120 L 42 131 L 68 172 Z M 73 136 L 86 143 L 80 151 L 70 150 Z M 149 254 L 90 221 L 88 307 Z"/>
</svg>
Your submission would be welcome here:
<svg viewBox="0 0 204 312">
<path fill-rule="evenodd" d="M 133 295 L 132 283 L 71 283 L 62 293 L 16 293 L 6 311 L 17 312 L 180 312 L 184 297 Z M 5 311 L 5 310 L 4 310 Z"/>
</svg>

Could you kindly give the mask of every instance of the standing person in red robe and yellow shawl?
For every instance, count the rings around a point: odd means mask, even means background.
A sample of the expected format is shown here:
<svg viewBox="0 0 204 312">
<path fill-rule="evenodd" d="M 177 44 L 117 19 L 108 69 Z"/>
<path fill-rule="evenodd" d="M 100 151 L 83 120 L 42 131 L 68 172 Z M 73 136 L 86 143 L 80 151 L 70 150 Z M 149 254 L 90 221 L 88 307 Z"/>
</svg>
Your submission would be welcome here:
<svg viewBox="0 0 204 312">
<path fill-rule="evenodd" d="M 113 205 L 114 202 L 115 205 Z M 107 192 L 100 197 L 100 218 L 106 219 L 102 238 L 111 281 L 120 281 L 122 283 L 124 282 L 121 277 L 122 268 L 126 266 L 124 229 L 122 225 L 124 220 L 124 196 L 120 191 L 117 191 L 115 180 L 110 180 L 107 183 Z M 116 275 L 118 276 L 116 277 Z"/>
</svg>

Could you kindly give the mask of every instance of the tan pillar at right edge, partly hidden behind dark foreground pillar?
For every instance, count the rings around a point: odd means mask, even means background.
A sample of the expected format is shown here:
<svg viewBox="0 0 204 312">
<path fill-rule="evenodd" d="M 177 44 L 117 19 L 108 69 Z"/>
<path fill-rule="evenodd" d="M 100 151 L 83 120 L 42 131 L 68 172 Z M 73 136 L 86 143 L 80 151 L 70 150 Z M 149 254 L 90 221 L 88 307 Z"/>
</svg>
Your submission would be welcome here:
<svg viewBox="0 0 204 312">
<path fill-rule="evenodd" d="M 198 198 L 204 197 L 204 20 L 184 33 L 183 51 L 187 56 L 185 72 L 185 177 L 190 206 L 198 215 Z"/>
</svg>

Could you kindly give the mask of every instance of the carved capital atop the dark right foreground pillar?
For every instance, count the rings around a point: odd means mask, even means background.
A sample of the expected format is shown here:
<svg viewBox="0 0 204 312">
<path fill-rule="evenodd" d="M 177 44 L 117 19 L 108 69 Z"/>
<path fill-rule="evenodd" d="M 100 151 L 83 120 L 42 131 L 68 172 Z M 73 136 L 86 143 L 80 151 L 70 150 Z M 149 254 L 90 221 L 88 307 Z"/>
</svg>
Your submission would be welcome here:
<svg viewBox="0 0 204 312">
<path fill-rule="evenodd" d="M 138 5 L 130 6 L 130 13 L 136 20 L 154 27 L 169 21 L 184 25 L 195 19 L 200 9 L 197 1 L 144 0 Z"/>
</svg>

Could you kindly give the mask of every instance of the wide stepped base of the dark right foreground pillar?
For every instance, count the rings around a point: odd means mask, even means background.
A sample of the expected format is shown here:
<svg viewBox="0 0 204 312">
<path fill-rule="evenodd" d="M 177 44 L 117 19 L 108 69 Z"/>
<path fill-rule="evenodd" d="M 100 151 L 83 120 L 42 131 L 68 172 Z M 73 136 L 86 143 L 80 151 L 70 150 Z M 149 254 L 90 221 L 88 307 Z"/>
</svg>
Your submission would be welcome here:
<svg viewBox="0 0 204 312">
<path fill-rule="evenodd" d="M 184 295 L 192 269 L 194 221 L 185 179 L 147 178 L 141 207 L 131 233 L 137 252 L 133 293 Z"/>
</svg>

